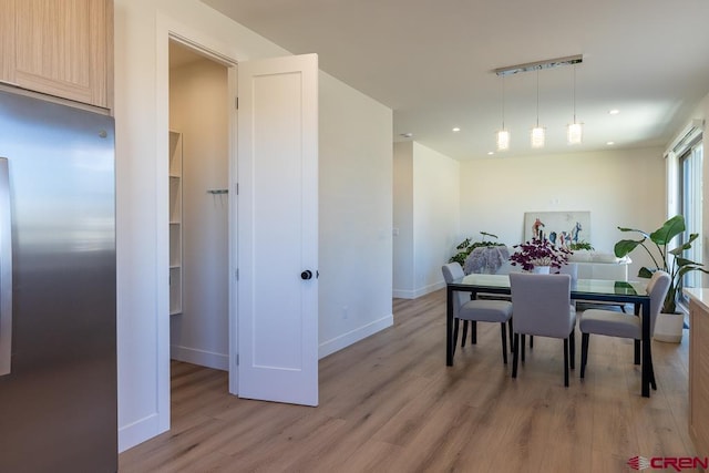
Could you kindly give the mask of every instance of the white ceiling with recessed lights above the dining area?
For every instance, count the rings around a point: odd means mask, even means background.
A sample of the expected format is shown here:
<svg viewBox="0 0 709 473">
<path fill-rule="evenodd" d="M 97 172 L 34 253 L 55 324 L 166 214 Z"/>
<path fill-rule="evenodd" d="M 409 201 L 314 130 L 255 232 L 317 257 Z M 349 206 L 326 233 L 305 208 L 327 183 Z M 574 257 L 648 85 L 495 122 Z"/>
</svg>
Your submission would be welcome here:
<svg viewBox="0 0 709 473">
<path fill-rule="evenodd" d="M 503 109 L 511 147 L 494 157 L 666 146 L 709 93 L 707 0 L 203 1 L 318 53 L 322 71 L 393 110 L 394 141 L 460 161 L 495 151 Z M 575 54 L 575 66 L 494 73 Z M 584 142 L 569 146 L 574 96 Z M 537 113 L 543 150 L 530 145 Z"/>
</svg>

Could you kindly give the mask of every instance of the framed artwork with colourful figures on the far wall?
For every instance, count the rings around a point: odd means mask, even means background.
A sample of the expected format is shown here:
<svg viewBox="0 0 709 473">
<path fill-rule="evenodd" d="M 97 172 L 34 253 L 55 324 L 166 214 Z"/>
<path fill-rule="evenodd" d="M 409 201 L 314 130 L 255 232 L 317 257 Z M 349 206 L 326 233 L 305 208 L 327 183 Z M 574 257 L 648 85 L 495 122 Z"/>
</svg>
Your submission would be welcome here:
<svg viewBox="0 0 709 473">
<path fill-rule="evenodd" d="M 590 243 L 590 212 L 525 212 L 524 240 L 532 238 L 547 238 L 561 247 Z"/>
</svg>

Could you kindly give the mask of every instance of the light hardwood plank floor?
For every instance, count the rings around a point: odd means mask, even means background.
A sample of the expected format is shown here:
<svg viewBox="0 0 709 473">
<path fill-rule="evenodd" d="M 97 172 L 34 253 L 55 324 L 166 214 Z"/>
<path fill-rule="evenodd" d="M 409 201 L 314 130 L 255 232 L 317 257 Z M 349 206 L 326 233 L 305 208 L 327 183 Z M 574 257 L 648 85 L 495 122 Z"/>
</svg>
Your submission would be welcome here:
<svg viewBox="0 0 709 473">
<path fill-rule="evenodd" d="M 121 472 L 627 472 L 693 455 L 688 337 L 653 342 L 640 397 L 630 341 L 592 337 L 564 388 L 561 340 L 535 337 L 516 380 L 500 327 L 445 367 L 445 295 L 395 299 L 394 326 L 320 360 L 320 405 L 240 400 L 225 372 L 173 362 L 172 430 L 120 455 Z M 577 332 L 577 340 L 580 336 Z"/>
</svg>

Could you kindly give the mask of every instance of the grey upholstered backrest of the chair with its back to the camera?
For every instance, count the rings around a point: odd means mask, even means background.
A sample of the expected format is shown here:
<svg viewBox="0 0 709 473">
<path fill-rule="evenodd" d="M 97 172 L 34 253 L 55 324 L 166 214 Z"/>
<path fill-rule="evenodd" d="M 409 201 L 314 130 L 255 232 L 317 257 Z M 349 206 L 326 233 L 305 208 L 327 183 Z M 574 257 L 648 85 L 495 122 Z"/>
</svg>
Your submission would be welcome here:
<svg viewBox="0 0 709 473">
<path fill-rule="evenodd" d="M 511 273 L 512 326 L 515 332 L 567 338 L 572 277 Z"/>
</svg>

